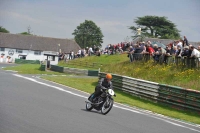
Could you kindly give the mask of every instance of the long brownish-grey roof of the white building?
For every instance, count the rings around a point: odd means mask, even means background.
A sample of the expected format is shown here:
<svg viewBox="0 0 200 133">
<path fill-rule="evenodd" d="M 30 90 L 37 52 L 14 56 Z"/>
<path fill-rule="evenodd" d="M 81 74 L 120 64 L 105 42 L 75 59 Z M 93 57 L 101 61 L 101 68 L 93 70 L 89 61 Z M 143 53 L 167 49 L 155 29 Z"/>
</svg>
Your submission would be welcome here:
<svg viewBox="0 0 200 133">
<path fill-rule="evenodd" d="M 78 51 L 80 49 L 80 46 L 74 40 L 1 32 L 0 47 L 56 52 L 59 52 L 59 49 L 61 49 L 61 52 Z"/>
</svg>

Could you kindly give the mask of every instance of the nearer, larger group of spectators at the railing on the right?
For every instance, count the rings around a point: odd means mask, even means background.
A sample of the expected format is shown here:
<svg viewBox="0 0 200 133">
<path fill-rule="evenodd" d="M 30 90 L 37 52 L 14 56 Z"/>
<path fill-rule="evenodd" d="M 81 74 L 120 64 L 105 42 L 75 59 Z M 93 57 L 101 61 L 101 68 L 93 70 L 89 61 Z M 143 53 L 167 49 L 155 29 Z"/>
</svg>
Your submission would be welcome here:
<svg viewBox="0 0 200 133">
<path fill-rule="evenodd" d="M 200 46 L 195 48 L 192 44 L 188 43 L 185 36 L 184 40 L 175 40 L 166 45 L 165 48 L 158 46 L 157 44 L 153 45 L 150 41 L 137 42 L 136 44 L 129 46 L 128 57 L 130 58 L 130 62 L 139 60 L 142 57 L 142 54 L 150 54 L 155 61 L 158 62 L 161 60 L 166 63 L 168 56 L 199 58 Z"/>
</svg>

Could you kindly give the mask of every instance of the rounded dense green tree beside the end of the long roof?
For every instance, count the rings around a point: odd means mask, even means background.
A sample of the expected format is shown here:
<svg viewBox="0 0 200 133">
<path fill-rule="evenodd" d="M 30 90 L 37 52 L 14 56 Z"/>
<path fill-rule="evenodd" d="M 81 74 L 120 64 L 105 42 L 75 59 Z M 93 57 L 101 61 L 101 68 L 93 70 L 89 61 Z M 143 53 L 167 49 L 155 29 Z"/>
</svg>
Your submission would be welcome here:
<svg viewBox="0 0 200 133">
<path fill-rule="evenodd" d="M 75 41 L 79 44 L 81 48 L 100 46 L 103 43 L 103 34 L 100 27 L 90 20 L 85 20 L 81 23 L 72 33 L 74 35 Z"/>
</svg>

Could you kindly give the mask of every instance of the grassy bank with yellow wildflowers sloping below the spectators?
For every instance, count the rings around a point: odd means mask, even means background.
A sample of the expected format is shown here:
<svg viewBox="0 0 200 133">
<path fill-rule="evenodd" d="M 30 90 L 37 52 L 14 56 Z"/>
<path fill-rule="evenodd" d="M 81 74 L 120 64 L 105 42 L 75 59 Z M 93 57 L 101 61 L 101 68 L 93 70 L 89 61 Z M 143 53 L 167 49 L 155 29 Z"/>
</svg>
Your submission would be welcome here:
<svg viewBox="0 0 200 133">
<path fill-rule="evenodd" d="M 179 86 L 200 91 L 200 70 L 183 69 L 181 66 L 169 66 L 149 62 L 129 62 L 127 54 L 91 56 L 75 59 L 70 62 L 97 62 L 102 63 L 101 72 L 125 75 L 133 78 L 153 81 L 161 84 Z M 91 69 L 79 65 L 68 65 L 60 62 L 60 66 Z M 97 69 L 97 68 L 96 68 Z"/>
</svg>

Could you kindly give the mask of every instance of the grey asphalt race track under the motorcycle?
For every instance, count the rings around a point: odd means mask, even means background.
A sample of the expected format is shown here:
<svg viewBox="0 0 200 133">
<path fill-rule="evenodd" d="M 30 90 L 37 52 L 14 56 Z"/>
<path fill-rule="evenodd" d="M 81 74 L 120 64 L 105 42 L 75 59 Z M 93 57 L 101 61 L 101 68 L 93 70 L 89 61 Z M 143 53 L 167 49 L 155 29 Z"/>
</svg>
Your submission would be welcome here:
<svg viewBox="0 0 200 133">
<path fill-rule="evenodd" d="M 119 104 L 107 115 L 89 112 L 85 110 L 88 96 L 32 75 L 0 69 L 0 133 L 200 132 L 199 125 Z"/>
</svg>

